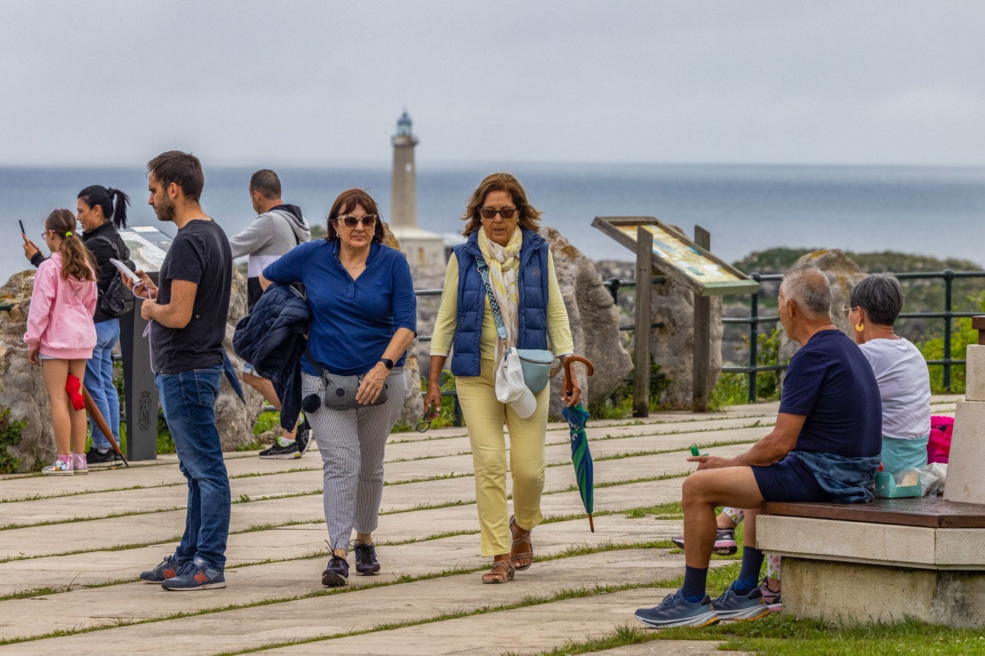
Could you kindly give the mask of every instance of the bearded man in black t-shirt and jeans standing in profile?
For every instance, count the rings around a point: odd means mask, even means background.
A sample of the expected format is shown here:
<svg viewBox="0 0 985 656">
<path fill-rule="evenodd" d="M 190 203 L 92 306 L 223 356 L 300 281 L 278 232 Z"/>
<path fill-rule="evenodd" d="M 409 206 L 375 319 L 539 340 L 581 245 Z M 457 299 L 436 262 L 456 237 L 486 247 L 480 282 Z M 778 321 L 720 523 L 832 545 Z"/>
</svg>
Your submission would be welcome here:
<svg viewBox="0 0 985 656">
<path fill-rule="evenodd" d="M 205 182 L 198 157 L 170 150 L 147 165 L 148 204 L 178 228 L 155 286 L 143 271 L 133 286 L 146 300 L 155 383 L 188 481 L 185 531 L 173 556 L 141 573 L 165 590 L 226 587 L 230 481 L 214 403 L 223 373 L 232 252 L 226 233 L 199 205 Z"/>
</svg>

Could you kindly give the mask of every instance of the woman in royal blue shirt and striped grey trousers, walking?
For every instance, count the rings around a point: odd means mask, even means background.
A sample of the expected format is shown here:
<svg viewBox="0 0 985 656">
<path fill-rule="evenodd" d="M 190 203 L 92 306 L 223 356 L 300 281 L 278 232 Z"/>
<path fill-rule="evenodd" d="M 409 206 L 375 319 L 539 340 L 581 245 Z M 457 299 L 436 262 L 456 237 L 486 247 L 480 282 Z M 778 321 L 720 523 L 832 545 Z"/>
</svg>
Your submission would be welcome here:
<svg viewBox="0 0 985 656">
<path fill-rule="evenodd" d="M 324 397 L 321 370 L 361 376 L 361 407 L 322 405 L 305 411 L 324 462 L 325 522 L 332 558 L 328 586 L 349 577 L 350 539 L 356 570 L 373 575 L 379 562 L 372 532 L 383 496 L 383 447 L 407 397 L 405 352 L 417 330 L 417 299 L 404 255 L 382 244 L 376 203 L 361 189 L 343 192 L 328 214 L 328 233 L 297 246 L 263 270 L 280 284 L 300 282 L 311 306 L 308 350 L 301 358 L 301 394 Z M 386 400 L 373 404 L 386 388 Z"/>
</svg>

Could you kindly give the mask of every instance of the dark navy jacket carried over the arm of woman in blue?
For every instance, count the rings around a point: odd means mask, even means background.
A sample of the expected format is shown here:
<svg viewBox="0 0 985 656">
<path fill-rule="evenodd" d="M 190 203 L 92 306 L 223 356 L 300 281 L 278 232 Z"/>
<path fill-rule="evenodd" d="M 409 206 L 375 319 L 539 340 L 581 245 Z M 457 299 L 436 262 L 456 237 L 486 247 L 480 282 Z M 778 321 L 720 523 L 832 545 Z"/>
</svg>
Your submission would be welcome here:
<svg viewBox="0 0 985 656">
<path fill-rule="evenodd" d="M 281 426 L 288 431 L 294 430 L 301 410 L 300 358 L 310 325 L 307 299 L 294 287 L 272 284 L 232 335 L 239 357 L 274 384 L 281 399 Z"/>
</svg>

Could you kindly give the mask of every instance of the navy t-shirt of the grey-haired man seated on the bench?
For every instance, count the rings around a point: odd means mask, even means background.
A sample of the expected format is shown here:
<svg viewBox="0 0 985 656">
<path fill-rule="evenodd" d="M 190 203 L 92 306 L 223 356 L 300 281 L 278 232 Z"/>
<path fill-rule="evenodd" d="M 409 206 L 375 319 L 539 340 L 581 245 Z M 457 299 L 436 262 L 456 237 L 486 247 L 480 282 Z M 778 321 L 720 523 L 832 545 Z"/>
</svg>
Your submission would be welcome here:
<svg viewBox="0 0 985 656">
<path fill-rule="evenodd" d="M 815 333 L 790 359 L 780 412 L 807 417 L 794 450 L 848 457 L 882 452 L 876 376 L 862 350 L 840 330 Z"/>
</svg>

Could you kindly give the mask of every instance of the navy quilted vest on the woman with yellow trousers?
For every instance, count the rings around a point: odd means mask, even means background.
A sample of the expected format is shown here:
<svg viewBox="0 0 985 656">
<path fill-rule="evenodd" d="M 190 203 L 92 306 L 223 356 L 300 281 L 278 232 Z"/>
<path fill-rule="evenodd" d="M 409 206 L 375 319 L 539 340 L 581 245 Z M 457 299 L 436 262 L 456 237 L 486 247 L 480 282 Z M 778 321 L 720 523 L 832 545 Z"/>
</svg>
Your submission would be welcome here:
<svg viewBox="0 0 985 656">
<path fill-rule="evenodd" d="M 481 228 L 480 228 L 481 229 Z M 519 338 L 517 348 L 548 347 L 548 243 L 532 230 L 523 231 L 520 247 Z M 481 351 L 479 340 L 486 311 L 486 285 L 476 268 L 482 258 L 479 234 L 473 232 L 469 241 L 456 246 L 458 260 L 458 324 L 455 326 L 454 356 L 451 373 L 455 376 L 479 376 Z"/>
</svg>

